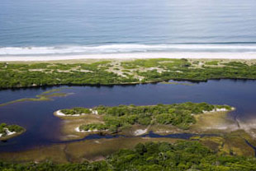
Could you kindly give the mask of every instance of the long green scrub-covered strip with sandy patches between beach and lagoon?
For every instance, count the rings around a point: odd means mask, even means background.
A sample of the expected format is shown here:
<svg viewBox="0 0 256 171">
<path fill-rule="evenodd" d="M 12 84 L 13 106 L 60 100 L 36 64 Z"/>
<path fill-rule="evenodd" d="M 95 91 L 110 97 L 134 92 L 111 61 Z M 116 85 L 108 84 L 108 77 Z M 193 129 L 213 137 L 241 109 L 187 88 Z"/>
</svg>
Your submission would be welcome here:
<svg viewBox="0 0 256 171">
<path fill-rule="evenodd" d="M 168 80 L 256 79 L 254 60 L 130 59 L 0 63 L 0 89 L 46 85 L 126 85 Z"/>
</svg>

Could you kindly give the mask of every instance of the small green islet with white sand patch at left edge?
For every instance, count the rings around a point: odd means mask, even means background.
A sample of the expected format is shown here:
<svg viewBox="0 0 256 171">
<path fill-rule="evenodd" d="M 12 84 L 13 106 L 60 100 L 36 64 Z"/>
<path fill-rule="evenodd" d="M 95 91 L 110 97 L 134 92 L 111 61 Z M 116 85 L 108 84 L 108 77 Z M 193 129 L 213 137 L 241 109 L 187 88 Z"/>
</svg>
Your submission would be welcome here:
<svg viewBox="0 0 256 171">
<path fill-rule="evenodd" d="M 0 141 L 6 141 L 14 136 L 19 136 L 26 129 L 18 125 L 7 125 L 7 123 L 0 124 Z"/>
</svg>

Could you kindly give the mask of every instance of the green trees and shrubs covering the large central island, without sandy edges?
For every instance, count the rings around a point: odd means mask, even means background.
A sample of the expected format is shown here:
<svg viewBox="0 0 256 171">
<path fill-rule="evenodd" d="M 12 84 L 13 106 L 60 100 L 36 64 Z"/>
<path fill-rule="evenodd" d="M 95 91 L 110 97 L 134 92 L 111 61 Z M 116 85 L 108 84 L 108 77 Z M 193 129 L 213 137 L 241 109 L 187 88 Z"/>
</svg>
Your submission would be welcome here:
<svg viewBox="0 0 256 171">
<path fill-rule="evenodd" d="M 115 107 L 97 106 L 93 109 L 73 108 L 62 109 L 64 114 L 93 113 L 103 115 L 103 123 L 85 124 L 79 127 L 80 131 L 97 130 L 120 132 L 131 125 L 172 125 L 182 129 L 189 128 L 196 122 L 195 114 L 210 112 L 215 109 L 230 110 L 228 105 L 212 105 L 206 103 L 183 103 L 183 104 L 158 104 L 151 106 L 119 105 Z"/>
</svg>

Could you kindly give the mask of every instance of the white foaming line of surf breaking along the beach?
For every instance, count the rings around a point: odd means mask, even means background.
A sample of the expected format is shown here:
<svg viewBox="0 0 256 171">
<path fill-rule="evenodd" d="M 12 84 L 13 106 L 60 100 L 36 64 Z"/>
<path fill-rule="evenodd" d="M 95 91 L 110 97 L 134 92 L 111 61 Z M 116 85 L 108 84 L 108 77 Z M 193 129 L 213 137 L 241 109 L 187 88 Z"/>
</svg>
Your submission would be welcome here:
<svg viewBox="0 0 256 171">
<path fill-rule="evenodd" d="M 107 44 L 98 46 L 61 45 L 0 48 L 0 56 L 159 52 L 256 53 L 256 44 Z"/>
</svg>

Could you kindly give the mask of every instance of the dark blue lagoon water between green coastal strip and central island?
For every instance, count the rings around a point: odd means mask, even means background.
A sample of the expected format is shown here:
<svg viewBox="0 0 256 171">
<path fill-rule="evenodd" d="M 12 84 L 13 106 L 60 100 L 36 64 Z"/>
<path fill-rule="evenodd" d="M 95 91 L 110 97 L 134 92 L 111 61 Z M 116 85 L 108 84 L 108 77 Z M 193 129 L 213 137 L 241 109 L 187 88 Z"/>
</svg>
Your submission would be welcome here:
<svg viewBox="0 0 256 171">
<path fill-rule="evenodd" d="M 61 86 L 62 92 L 72 93 L 66 97 L 56 97 L 52 101 L 26 101 L 0 107 L 0 122 L 18 124 L 26 132 L 8 141 L 0 142 L 0 151 L 26 150 L 35 146 L 59 143 L 59 123 L 53 113 L 58 109 L 73 107 L 93 107 L 96 105 L 119 104 L 173 104 L 207 102 L 210 104 L 229 104 L 236 110 L 230 118 L 238 118 L 249 127 L 256 122 L 256 81 L 220 80 L 193 85 L 115 85 L 115 86 Z M 59 87 L 58 87 L 59 88 Z M 45 90 L 26 89 L 1 90 L 0 104 L 13 99 L 35 97 Z M 154 136 L 154 135 L 153 135 Z M 98 138 L 91 136 L 92 138 Z M 110 137 L 111 138 L 111 137 Z"/>
</svg>

